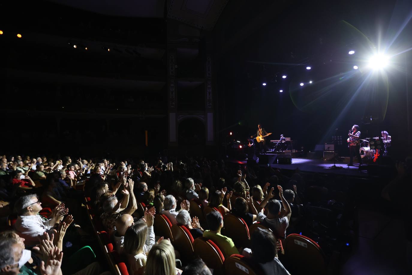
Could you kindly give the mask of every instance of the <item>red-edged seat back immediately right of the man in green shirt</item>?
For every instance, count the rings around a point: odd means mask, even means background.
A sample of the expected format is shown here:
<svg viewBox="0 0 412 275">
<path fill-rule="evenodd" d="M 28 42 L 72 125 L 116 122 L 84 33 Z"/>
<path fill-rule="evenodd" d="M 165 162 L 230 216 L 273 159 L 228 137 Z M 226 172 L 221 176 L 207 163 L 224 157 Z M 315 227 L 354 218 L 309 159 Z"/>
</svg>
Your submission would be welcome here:
<svg viewBox="0 0 412 275">
<path fill-rule="evenodd" d="M 233 240 L 236 247 L 250 247 L 249 228 L 242 218 L 227 214 L 223 224 L 225 235 Z"/>
</svg>

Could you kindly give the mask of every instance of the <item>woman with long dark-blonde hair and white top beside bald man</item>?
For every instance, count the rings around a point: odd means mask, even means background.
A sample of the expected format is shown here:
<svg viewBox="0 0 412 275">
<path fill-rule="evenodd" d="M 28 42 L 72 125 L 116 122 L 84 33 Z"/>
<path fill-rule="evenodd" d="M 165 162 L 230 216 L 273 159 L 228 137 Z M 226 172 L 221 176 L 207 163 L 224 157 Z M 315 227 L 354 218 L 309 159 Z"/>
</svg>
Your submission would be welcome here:
<svg viewBox="0 0 412 275">
<path fill-rule="evenodd" d="M 147 251 L 144 250 L 145 244 Z M 127 255 L 131 274 L 140 273 L 145 268 L 146 253 L 150 251 L 153 244 L 155 244 L 153 215 L 150 216 L 149 221 L 138 221 L 126 230 L 123 251 Z"/>
</svg>

